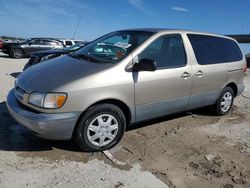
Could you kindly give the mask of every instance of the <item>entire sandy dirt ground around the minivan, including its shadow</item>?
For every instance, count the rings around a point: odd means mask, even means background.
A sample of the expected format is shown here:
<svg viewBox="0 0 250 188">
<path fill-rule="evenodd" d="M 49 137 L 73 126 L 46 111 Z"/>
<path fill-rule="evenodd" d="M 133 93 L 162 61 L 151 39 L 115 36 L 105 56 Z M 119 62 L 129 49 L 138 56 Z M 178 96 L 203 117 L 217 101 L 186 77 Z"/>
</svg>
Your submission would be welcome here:
<svg viewBox="0 0 250 188">
<path fill-rule="evenodd" d="M 117 166 L 13 120 L 5 99 L 26 61 L 0 57 L 0 187 L 250 187 L 249 76 L 229 115 L 198 109 L 129 127 L 110 151 L 126 162 Z"/>
</svg>

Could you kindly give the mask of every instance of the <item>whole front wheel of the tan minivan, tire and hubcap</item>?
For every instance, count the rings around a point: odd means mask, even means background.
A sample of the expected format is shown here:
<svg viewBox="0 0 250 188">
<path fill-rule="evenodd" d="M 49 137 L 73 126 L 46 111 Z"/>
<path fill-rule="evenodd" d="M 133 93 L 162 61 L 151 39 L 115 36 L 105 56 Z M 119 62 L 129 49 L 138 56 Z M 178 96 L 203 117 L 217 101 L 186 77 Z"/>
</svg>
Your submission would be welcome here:
<svg viewBox="0 0 250 188">
<path fill-rule="evenodd" d="M 125 128 L 126 119 L 120 108 L 98 104 L 90 107 L 80 119 L 75 139 L 84 151 L 104 151 L 121 140 Z"/>
</svg>

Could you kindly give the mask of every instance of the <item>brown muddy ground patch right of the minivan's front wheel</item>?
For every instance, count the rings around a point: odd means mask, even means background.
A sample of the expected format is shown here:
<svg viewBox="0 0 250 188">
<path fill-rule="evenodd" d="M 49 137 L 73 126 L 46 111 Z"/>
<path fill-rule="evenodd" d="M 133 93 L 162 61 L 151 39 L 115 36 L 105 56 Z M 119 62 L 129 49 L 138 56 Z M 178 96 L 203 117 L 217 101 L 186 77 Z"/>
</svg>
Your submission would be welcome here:
<svg viewBox="0 0 250 188">
<path fill-rule="evenodd" d="M 223 117 L 200 109 L 137 125 L 113 152 L 169 187 L 250 187 L 250 117 L 237 104 Z"/>
</svg>

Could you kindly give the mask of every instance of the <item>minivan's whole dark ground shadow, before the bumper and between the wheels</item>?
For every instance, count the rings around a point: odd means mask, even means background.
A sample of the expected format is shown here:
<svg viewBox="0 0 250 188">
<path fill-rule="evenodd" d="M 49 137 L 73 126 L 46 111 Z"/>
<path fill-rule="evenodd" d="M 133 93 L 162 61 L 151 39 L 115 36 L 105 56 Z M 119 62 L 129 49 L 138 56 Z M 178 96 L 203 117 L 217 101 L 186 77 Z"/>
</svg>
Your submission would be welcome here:
<svg viewBox="0 0 250 188">
<path fill-rule="evenodd" d="M 199 115 L 206 115 L 207 109 L 199 109 L 194 112 L 183 112 L 164 116 L 150 121 L 129 126 L 127 131 L 147 127 L 153 124 L 157 124 L 164 121 L 170 121 L 172 119 L 181 118 L 184 116 L 192 115 L 196 113 Z M 71 151 L 81 152 L 81 149 L 74 141 L 54 141 L 46 140 L 35 136 L 29 129 L 17 123 L 9 114 L 6 106 L 6 102 L 0 103 L 0 150 L 2 151 L 49 151 L 53 148 Z"/>
</svg>

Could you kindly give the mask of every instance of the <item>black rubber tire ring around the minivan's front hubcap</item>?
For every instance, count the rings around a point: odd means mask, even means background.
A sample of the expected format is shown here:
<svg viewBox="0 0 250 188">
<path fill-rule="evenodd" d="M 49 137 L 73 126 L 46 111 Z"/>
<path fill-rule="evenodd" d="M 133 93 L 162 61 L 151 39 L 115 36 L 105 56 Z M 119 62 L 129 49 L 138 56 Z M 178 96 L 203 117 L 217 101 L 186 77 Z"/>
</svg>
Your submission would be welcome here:
<svg viewBox="0 0 250 188">
<path fill-rule="evenodd" d="M 98 147 L 90 143 L 87 139 L 88 126 L 94 118 L 101 114 L 110 114 L 114 116 L 118 122 L 118 132 L 113 141 L 109 144 Z M 126 120 L 122 111 L 114 105 L 98 105 L 91 108 L 81 119 L 77 128 L 77 142 L 85 151 L 103 151 L 114 147 L 122 138 L 126 128 Z"/>
</svg>

